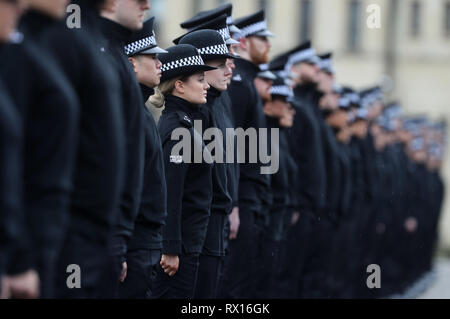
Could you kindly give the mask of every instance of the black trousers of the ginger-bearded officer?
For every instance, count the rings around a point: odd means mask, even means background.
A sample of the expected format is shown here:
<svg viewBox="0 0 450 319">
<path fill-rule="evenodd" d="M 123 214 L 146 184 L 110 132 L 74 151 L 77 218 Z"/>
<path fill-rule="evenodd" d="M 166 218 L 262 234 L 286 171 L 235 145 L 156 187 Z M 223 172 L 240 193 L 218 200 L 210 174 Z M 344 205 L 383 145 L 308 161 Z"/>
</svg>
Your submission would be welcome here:
<svg viewBox="0 0 450 319">
<path fill-rule="evenodd" d="M 252 298 L 256 282 L 256 260 L 260 248 L 262 225 L 255 212 L 239 208 L 240 226 L 237 238 L 229 243 L 229 256 L 224 265 L 221 298 Z"/>
</svg>

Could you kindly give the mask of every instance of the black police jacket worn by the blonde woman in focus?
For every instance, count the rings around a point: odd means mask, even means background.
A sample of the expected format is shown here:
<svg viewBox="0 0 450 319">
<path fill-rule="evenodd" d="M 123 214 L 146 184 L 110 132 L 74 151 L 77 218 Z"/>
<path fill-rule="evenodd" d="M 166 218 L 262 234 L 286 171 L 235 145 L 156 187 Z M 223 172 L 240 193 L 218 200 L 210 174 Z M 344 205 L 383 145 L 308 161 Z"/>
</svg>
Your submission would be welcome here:
<svg viewBox="0 0 450 319">
<path fill-rule="evenodd" d="M 203 115 L 199 106 L 168 95 L 158 122 L 167 183 L 167 219 L 163 228 L 163 253 L 200 254 L 204 245 L 212 201 L 212 164 L 204 159 L 194 162 L 196 152 L 210 156 L 194 120 Z M 176 129 L 183 129 L 180 137 Z M 174 132 L 175 131 L 175 132 Z M 176 151 L 180 142 L 188 149 Z M 175 147 L 175 148 L 174 148 Z M 184 152 L 190 151 L 190 156 Z M 172 154 L 173 153 L 173 154 Z M 199 154 L 199 153 L 197 153 Z"/>
</svg>

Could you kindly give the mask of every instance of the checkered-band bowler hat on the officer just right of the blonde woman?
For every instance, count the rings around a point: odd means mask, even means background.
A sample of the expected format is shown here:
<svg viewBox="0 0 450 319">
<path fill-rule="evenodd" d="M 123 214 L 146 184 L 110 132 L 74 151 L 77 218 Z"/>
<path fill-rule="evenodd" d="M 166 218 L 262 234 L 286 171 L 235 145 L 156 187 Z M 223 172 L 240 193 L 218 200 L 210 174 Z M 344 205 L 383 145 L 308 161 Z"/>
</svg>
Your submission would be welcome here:
<svg viewBox="0 0 450 319">
<path fill-rule="evenodd" d="M 228 47 L 220 33 L 214 30 L 194 31 L 181 38 L 179 43 L 196 47 L 204 61 L 235 58 L 228 52 Z"/>
</svg>

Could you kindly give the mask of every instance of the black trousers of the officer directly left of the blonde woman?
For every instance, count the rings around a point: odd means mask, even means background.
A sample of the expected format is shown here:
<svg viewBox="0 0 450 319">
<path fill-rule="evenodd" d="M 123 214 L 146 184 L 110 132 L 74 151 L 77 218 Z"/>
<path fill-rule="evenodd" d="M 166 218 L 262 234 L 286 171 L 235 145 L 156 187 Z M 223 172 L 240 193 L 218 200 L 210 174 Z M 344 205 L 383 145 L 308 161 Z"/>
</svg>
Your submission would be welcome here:
<svg viewBox="0 0 450 319">
<path fill-rule="evenodd" d="M 161 260 L 159 249 L 138 249 L 127 253 L 127 277 L 120 284 L 121 299 L 149 299 Z"/>
</svg>

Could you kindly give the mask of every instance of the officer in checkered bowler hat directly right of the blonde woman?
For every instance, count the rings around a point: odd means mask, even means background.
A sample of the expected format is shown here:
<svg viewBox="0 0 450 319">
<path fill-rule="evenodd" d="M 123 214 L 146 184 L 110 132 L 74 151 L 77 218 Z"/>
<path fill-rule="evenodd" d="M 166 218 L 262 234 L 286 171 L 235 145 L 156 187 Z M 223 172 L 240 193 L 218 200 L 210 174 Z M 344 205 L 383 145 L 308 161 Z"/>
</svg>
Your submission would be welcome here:
<svg viewBox="0 0 450 319">
<path fill-rule="evenodd" d="M 232 198 L 228 189 L 226 164 L 226 123 L 224 121 L 224 106 L 220 104 L 220 95 L 228 88 L 228 78 L 232 71 L 227 65 L 227 59 L 234 56 L 228 53 L 224 37 L 214 30 L 198 30 L 187 34 L 180 40 L 180 44 L 195 46 L 206 65 L 216 67 L 216 70 L 205 73 L 205 80 L 210 85 L 207 103 L 201 111 L 205 117 L 203 128 L 214 128 L 220 132 L 221 141 L 217 141 L 215 162 L 212 170 L 213 199 L 211 216 L 209 218 L 203 251 L 200 255 L 199 278 L 195 297 L 199 299 L 216 298 L 222 267 L 222 258 L 225 256 L 225 227 L 228 215 L 232 210 Z M 219 103 L 218 103 L 219 102 Z M 222 145 L 222 146 L 221 146 Z M 220 156 L 220 158 L 218 158 Z"/>
</svg>

